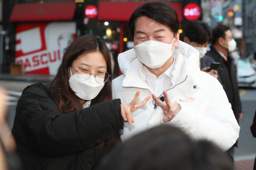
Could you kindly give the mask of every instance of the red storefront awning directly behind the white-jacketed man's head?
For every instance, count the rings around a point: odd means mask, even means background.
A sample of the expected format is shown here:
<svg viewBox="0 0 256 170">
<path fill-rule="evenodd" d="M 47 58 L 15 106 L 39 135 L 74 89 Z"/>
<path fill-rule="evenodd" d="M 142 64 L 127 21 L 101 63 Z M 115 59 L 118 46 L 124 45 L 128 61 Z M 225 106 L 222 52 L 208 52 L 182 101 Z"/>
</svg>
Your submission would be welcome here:
<svg viewBox="0 0 256 170">
<path fill-rule="evenodd" d="M 127 22 L 133 11 L 148 2 L 99 1 L 99 21 Z M 182 3 L 166 3 L 177 11 L 179 22 L 183 21 Z"/>
</svg>

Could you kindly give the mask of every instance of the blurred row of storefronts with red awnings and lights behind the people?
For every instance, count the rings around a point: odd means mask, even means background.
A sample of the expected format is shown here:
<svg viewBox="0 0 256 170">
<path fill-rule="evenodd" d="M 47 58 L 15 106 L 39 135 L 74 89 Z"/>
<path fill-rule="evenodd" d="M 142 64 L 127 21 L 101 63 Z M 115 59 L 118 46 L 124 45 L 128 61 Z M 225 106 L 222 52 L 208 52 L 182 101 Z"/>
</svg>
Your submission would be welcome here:
<svg viewBox="0 0 256 170">
<path fill-rule="evenodd" d="M 25 73 L 55 74 L 67 46 L 84 34 L 111 44 L 117 55 L 133 48 L 128 19 L 138 7 L 157 0 L 0 0 L 0 73 L 22 65 Z M 230 26 L 242 58 L 256 52 L 255 0 L 158 0 L 175 8 L 182 29 L 190 20 L 211 28 Z"/>
</svg>

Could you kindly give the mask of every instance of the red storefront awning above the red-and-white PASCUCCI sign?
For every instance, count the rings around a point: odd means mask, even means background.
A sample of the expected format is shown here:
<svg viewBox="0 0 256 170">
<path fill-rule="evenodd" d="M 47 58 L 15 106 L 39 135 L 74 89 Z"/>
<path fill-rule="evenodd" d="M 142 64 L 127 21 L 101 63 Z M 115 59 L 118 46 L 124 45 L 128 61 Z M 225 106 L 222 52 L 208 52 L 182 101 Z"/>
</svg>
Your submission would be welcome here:
<svg viewBox="0 0 256 170">
<path fill-rule="evenodd" d="M 16 4 L 10 22 L 73 20 L 75 11 L 75 2 Z"/>
</svg>

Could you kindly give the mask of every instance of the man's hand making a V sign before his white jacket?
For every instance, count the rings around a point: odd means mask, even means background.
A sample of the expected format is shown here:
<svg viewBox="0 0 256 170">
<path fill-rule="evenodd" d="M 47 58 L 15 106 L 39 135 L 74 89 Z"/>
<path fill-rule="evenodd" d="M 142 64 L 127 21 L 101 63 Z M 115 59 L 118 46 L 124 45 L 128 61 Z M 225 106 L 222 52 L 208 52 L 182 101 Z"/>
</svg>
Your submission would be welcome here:
<svg viewBox="0 0 256 170">
<path fill-rule="evenodd" d="M 164 117 L 163 122 L 170 122 L 180 111 L 180 105 L 177 103 L 172 103 L 167 92 L 163 91 L 164 102 L 157 98 L 156 95 L 152 94 L 152 97 L 157 105 L 163 109 Z"/>
</svg>

